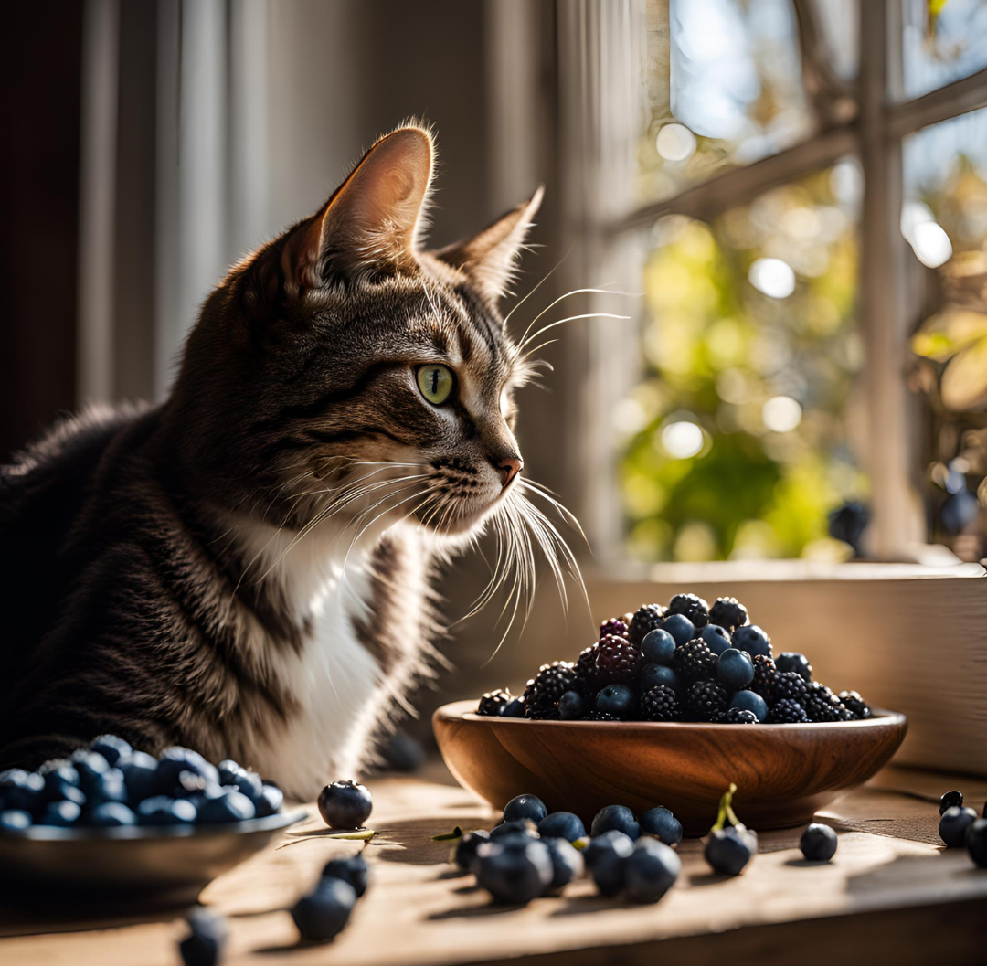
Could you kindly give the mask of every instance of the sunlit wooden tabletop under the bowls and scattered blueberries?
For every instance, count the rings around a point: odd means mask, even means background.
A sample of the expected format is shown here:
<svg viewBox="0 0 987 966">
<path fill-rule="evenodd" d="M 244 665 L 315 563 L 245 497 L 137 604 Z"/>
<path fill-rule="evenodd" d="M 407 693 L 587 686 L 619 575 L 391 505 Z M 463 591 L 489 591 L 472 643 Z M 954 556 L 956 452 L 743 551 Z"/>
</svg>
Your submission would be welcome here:
<svg viewBox="0 0 987 966">
<path fill-rule="evenodd" d="M 828 864 L 801 860 L 799 830 L 769 832 L 747 871 L 723 879 L 700 843 L 686 841 L 682 874 L 655 906 L 599 898 L 582 881 L 518 909 L 493 905 L 472 876 L 446 864 L 446 845 L 430 841 L 494 821 L 434 765 L 417 778 L 371 782 L 379 833 L 365 852 L 371 885 L 335 942 L 298 945 L 285 912 L 330 855 L 354 851 L 320 835 L 317 819 L 217 879 L 202 901 L 229 917 L 228 966 L 983 963 L 987 870 L 943 849 L 936 832 L 936 802 L 953 787 L 981 809 L 987 781 L 885 770 L 821 814 L 840 833 Z M 67 923 L 4 910 L 0 963 L 175 966 L 177 915 Z"/>
</svg>

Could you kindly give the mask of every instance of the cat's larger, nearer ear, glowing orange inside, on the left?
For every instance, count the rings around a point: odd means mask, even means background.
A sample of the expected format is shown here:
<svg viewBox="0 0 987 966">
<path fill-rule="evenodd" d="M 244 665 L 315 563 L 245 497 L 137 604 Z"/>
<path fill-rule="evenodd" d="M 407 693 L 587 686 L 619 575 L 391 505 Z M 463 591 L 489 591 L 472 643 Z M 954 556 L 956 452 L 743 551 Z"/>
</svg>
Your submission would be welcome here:
<svg viewBox="0 0 987 966">
<path fill-rule="evenodd" d="M 248 267 L 250 301 L 272 308 L 279 297 L 336 280 L 411 271 L 434 156 L 421 127 L 380 138 L 318 212 L 257 255 Z"/>
</svg>

